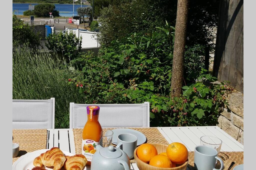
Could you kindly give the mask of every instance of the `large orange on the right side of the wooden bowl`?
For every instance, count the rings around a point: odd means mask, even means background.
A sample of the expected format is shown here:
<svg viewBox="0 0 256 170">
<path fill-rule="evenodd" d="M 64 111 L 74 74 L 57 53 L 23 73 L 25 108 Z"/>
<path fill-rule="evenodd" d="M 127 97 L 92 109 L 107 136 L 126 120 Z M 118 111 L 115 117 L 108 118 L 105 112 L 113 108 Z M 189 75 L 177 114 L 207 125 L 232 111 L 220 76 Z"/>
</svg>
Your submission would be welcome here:
<svg viewBox="0 0 256 170">
<path fill-rule="evenodd" d="M 188 159 L 188 149 L 179 142 L 168 145 L 166 149 L 168 158 L 175 164 L 183 164 Z"/>
</svg>

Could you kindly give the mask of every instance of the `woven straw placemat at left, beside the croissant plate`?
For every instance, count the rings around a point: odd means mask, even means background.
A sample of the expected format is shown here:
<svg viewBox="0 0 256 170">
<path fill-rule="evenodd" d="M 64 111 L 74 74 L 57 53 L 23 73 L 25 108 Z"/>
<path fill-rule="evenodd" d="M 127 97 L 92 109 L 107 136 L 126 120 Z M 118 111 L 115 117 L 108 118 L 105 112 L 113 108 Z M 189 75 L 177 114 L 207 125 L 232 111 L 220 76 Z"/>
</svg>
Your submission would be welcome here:
<svg viewBox="0 0 256 170">
<path fill-rule="evenodd" d="M 46 149 L 47 129 L 13 129 L 13 143 L 19 144 L 19 154 L 13 163 L 27 152 Z"/>
</svg>

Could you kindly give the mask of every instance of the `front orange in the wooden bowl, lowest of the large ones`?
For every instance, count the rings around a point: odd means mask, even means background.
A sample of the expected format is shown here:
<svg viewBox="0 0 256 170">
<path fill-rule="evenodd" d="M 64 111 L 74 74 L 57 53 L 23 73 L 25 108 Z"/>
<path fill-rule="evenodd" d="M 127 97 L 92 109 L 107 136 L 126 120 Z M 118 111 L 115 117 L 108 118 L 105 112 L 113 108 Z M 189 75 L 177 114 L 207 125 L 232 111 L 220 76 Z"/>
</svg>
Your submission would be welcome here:
<svg viewBox="0 0 256 170">
<path fill-rule="evenodd" d="M 171 168 L 172 162 L 166 155 L 156 155 L 153 158 L 151 158 L 150 165 L 160 168 Z"/>
</svg>

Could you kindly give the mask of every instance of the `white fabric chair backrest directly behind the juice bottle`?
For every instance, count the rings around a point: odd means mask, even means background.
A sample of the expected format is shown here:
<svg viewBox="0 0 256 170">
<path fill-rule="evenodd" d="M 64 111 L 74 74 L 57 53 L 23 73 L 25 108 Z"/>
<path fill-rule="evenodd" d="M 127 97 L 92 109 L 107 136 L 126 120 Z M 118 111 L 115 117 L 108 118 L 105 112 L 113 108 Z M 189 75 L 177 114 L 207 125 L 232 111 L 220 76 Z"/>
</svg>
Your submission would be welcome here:
<svg viewBox="0 0 256 170">
<path fill-rule="evenodd" d="M 86 107 L 100 107 L 101 127 L 149 127 L 149 102 L 142 104 L 75 104 L 70 103 L 70 128 L 83 128 L 87 122 Z"/>
</svg>

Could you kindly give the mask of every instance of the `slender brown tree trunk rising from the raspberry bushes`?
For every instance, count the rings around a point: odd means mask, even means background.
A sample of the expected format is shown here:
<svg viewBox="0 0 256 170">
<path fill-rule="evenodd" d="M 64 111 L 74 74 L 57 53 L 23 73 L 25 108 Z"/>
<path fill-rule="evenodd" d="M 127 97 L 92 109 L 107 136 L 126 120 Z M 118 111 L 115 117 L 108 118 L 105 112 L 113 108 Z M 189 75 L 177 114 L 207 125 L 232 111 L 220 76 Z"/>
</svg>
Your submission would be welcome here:
<svg viewBox="0 0 256 170">
<path fill-rule="evenodd" d="M 182 90 L 184 53 L 188 20 L 188 0 L 178 0 L 173 50 L 171 96 L 180 96 Z"/>
</svg>

